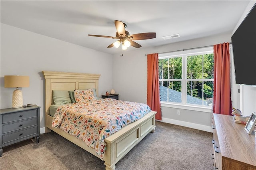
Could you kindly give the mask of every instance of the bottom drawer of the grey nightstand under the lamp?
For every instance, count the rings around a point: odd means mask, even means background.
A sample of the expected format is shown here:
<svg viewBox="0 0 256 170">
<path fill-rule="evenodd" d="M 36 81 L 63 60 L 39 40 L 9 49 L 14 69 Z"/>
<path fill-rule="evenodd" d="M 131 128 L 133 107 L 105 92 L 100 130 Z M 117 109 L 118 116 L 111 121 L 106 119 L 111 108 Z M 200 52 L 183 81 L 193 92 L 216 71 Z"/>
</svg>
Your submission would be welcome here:
<svg viewBox="0 0 256 170">
<path fill-rule="evenodd" d="M 2 144 L 5 144 L 7 142 L 11 142 L 13 140 L 17 140 L 19 138 L 24 138 L 26 136 L 30 136 L 37 133 L 37 126 L 33 128 L 28 128 L 25 130 L 20 130 L 18 132 L 9 133 L 6 135 L 2 135 Z"/>
</svg>

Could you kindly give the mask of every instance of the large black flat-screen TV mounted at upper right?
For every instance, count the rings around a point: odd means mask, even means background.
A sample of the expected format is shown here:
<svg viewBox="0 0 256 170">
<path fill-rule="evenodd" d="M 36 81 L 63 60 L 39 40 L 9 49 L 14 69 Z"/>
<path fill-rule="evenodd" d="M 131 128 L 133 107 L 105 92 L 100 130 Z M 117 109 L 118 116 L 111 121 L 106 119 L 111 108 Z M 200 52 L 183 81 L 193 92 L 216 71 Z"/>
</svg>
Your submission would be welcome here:
<svg viewBox="0 0 256 170">
<path fill-rule="evenodd" d="M 237 84 L 256 85 L 256 4 L 231 37 Z"/>
</svg>

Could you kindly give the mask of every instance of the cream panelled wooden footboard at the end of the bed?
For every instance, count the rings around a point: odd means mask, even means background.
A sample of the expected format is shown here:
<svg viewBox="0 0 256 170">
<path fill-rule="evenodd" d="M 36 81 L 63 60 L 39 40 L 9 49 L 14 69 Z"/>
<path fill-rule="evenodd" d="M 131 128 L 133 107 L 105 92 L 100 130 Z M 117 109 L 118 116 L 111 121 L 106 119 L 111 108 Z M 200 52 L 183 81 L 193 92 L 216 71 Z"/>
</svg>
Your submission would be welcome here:
<svg viewBox="0 0 256 170">
<path fill-rule="evenodd" d="M 149 132 L 154 132 L 156 127 L 155 115 L 156 112 L 152 111 L 142 119 L 130 123 L 104 140 L 107 144 L 104 155 L 106 170 L 114 170 L 116 162 L 124 157 Z"/>
</svg>

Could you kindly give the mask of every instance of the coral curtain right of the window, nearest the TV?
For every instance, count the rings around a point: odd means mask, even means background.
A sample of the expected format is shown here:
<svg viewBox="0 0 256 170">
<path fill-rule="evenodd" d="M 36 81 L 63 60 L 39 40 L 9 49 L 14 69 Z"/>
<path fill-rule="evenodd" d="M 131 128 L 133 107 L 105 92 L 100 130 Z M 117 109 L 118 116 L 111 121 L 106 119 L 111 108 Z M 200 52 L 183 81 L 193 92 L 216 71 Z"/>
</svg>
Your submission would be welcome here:
<svg viewBox="0 0 256 170">
<path fill-rule="evenodd" d="M 229 43 L 214 45 L 213 112 L 231 115 Z"/>
</svg>

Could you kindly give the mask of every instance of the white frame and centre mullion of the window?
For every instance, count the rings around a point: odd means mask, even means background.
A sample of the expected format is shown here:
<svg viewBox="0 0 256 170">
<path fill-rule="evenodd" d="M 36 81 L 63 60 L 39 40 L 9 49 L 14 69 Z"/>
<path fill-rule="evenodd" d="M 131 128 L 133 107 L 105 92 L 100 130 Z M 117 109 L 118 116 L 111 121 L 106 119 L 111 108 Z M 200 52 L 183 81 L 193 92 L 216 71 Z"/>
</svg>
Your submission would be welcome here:
<svg viewBox="0 0 256 170">
<path fill-rule="evenodd" d="M 196 48 L 196 49 L 187 49 L 187 50 L 175 51 L 175 52 L 170 52 L 170 53 L 161 53 L 158 55 L 158 59 L 182 57 L 182 79 L 175 79 L 175 80 L 182 81 L 182 90 L 181 90 L 182 103 L 172 103 L 172 102 L 161 101 L 161 106 L 172 107 L 172 108 L 177 108 L 177 109 L 202 111 L 202 112 L 208 112 L 208 113 L 210 113 L 212 111 L 212 107 L 210 107 L 210 106 L 187 104 L 186 103 L 186 94 L 187 94 L 186 90 L 187 89 L 184 88 L 187 86 L 186 85 L 187 81 L 190 80 L 190 79 L 187 79 L 187 77 L 186 77 L 186 75 L 187 75 L 187 70 L 186 70 L 187 56 L 201 55 L 201 54 L 206 54 L 206 53 L 213 53 L 213 46 Z M 193 79 L 193 81 L 196 81 L 196 80 L 197 79 Z M 209 81 L 209 80 L 213 81 L 213 79 L 198 79 L 198 81 Z"/>
</svg>

